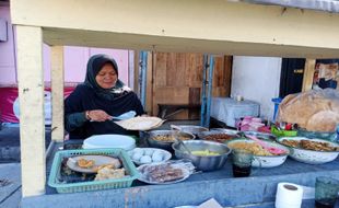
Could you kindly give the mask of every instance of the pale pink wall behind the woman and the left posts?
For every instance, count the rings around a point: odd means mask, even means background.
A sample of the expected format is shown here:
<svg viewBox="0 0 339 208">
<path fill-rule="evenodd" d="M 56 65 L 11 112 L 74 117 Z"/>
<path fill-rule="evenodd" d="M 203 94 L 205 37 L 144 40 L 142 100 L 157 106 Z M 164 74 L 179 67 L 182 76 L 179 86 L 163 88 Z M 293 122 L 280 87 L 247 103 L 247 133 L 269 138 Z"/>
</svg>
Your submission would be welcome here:
<svg viewBox="0 0 339 208">
<path fill-rule="evenodd" d="M 0 5 L 0 18 L 8 21 L 9 41 L 0 42 L 0 85 L 16 85 L 15 67 L 15 32 L 10 22 L 10 8 Z M 44 70 L 45 81 L 50 82 L 50 47 L 44 44 Z M 128 84 L 128 50 L 89 48 L 89 47 L 65 47 L 65 82 L 83 82 L 89 58 L 95 54 L 106 54 L 118 63 L 119 79 Z"/>
</svg>

